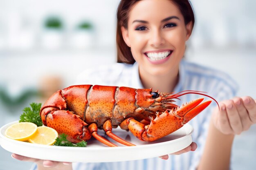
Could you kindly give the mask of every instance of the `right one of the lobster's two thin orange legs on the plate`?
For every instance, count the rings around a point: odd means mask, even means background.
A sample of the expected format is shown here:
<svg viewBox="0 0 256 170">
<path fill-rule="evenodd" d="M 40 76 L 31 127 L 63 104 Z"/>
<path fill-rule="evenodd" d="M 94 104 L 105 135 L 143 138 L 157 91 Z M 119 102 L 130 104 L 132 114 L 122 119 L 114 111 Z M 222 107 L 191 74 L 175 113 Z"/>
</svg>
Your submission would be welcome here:
<svg viewBox="0 0 256 170">
<path fill-rule="evenodd" d="M 120 144 L 124 144 L 126 146 L 135 146 L 134 144 L 131 144 L 130 142 L 121 139 L 120 137 L 118 137 L 117 135 L 115 135 L 114 133 L 112 133 L 112 125 L 111 125 L 111 120 L 107 120 L 105 121 L 105 123 L 103 124 L 103 129 L 105 130 L 106 134 L 111 138 L 114 139 L 115 141 L 119 142 Z"/>
</svg>

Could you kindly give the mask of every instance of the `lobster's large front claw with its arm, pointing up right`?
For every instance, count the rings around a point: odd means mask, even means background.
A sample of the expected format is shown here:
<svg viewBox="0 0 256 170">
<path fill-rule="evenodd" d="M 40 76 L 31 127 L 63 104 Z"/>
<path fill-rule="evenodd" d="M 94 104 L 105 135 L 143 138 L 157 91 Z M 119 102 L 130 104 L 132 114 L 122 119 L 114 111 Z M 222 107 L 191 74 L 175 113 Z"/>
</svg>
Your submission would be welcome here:
<svg viewBox="0 0 256 170">
<path fill-rule="evenodd" d="M 196 99 L 170 112 L 166 110 L 164 113 L 158 113 L 156 118 L 151 119 L 150 124 L 146 126 L 133 118 L 128 118 L 120 124 L 120 127 L 128 128 L 142 141 L 155 141 L 181 128 L 211 103 L 207 101 L 200 104 L 202 100 L 203 98 Z"/>
</svg>

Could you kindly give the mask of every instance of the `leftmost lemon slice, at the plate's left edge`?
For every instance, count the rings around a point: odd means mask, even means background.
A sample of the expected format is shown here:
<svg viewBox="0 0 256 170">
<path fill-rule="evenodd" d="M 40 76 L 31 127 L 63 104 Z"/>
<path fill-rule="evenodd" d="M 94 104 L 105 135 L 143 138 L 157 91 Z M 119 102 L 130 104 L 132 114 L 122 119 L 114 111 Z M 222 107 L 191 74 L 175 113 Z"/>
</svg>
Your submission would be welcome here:
<svg viewBox="0 0 256 170">
<path fill-rule="evenodd" d="M 20 122 L 9 126 L 5 130 L 5 136 L 18 141 L 26 141 L 36 133 L 36 130 L 36 124 Z"/>
</svg>

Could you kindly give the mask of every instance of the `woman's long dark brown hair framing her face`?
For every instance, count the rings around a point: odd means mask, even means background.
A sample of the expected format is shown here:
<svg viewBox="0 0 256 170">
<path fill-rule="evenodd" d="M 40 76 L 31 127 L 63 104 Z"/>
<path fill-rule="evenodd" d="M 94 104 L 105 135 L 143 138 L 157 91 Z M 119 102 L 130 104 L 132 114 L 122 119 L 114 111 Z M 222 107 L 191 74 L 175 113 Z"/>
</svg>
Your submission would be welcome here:
<svg viewBox="0 0 256 170">
<path fill-rule="evenodd" d="M 130 9 L 140 0 L 121 0 L 117 8 L 117 62 L 134 64 L 130 47 L 124 42 L 121 26 L 128 28 L 128 16 Z M 189 0 L 172 0 L 177 5 L 184 17 L 185 25 L 192 21 L 192 29 L 195 24 L 195 15 Z"/>
</svg>

